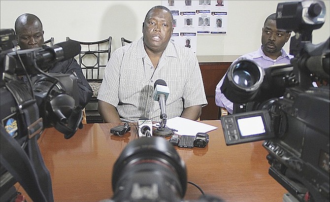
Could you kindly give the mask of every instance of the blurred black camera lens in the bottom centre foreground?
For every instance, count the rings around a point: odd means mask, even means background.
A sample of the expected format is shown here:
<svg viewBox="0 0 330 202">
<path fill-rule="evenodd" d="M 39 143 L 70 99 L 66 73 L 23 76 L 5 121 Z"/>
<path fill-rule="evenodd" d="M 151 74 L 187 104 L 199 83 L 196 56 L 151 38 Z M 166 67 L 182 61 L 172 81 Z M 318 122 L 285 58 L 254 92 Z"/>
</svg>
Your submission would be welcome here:
<svg viewBox="0 0 330 202">
<path fill-rule="evenodd" d="M 187 189 L 186 166 L 163 137 L 135 139 L 113 167 L 112 189 L 114 201 L 181 201 Z"/>
</svg>

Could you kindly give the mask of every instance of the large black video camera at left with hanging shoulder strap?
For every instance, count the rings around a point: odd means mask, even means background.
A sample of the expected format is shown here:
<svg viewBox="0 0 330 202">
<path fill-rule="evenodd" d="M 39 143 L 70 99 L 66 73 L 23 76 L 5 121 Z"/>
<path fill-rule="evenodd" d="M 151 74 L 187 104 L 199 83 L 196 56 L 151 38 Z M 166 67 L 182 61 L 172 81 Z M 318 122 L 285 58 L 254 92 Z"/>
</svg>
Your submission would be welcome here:
<svg viewBox="0 0 330 202">
<path fill-rule="evenodd" d="M 46 73 L 80 52 L 80 44 L 17 50 L 12 29 L 1 29 L 1 198 L 13 201 L 19 182 L 33 201 L 53 201 L 51 179 L 37 139 L 55 127 L 70 138 L 82 128 L 78 84 L 73 75 Z"/>
</svg>

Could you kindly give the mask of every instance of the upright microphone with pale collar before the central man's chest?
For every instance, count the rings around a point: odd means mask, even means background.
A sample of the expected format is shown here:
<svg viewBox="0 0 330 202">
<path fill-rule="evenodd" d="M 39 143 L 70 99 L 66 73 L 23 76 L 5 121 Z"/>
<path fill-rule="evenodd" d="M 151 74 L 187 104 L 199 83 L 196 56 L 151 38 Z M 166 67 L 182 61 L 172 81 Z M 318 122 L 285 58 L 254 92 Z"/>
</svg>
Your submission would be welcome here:
<svg viewBox="0 0 330 202">
<path fill-rule="evenodd" d="M 164 80 L 158 79 L 154 84 L 154 89 L 154 100 L 159 102 L 159 106 L 161 108 L 161 119 L 166 120 L 167 115 L 165 107 L 169 94 L 169 88 Z"/>
</svg>

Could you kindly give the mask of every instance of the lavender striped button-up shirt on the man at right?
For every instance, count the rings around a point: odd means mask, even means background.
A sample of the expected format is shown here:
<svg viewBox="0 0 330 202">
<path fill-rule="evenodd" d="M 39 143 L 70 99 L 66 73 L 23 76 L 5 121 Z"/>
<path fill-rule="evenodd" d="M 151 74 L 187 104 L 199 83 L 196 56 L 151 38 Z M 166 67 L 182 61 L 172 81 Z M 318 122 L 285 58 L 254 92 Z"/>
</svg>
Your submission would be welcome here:
<svg viewBox="0 0 330 202">
<path fill-rule="evenodd" d="M 281 52 L 282 52 L 282 55 L 279 56 L 276 60 L 273 60 L 264 54 L 264 52 L 262 50 L 262 46 L 260 46 L 260 48 L 257 51 L 242 55 L 241 57 L 237 58 L 234 62 L 236 62 L 237 60 L 239 60 L 241 58 L 245 58 L 248 60 L 253 60 L 262 68 L 267 68 L 271 65 L 277 65 L 277 64 L 290 64 L 290 59 L 292 59 L 293 56 L 288 55 L 283 48 L 282 48 Z M 219 83 L 215 89 L 215 103 L 216 103 L 216 105 L 218 105 L 220 107 L 225 107 L 228 110 L 228 112 L 232 114 L 233 103 L 226 98 L 226 96 L 221 92 L 221 89 L 220 89 L 225 80 L 226 74 L 219 81 Z"/>
</svg>

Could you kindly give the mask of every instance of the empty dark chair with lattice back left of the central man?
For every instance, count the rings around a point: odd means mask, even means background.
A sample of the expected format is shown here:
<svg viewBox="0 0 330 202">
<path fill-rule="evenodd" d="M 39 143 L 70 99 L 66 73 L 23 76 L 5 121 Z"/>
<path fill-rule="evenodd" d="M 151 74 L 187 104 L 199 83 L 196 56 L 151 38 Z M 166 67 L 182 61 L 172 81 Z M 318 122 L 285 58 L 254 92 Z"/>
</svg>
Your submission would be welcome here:
<svg viewBox="0 0 330 202">
<path fill-rule="evenodd" d="M 76 58 L 93 90 L 93 96 L 85 106 L 87 123 L 103 123 L 98 112 L 98 94 L 104 68 L 110 59 L 112 37 L 109 36 L 104 40 L 94 42 L 77 41 L 70 37 L 66 37 L 66 40 L 80 43 L 81 51 Z"/>
</svg>

